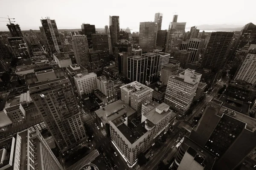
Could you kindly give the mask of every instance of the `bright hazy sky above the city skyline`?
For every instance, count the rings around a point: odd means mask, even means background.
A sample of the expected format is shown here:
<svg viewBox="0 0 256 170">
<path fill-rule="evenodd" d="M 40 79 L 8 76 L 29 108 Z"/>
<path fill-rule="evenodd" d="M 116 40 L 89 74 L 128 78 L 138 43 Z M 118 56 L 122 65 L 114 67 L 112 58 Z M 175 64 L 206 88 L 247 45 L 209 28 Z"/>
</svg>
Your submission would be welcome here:
<svg viewBox="0 0 256 170">
<path fill-rule="evenodd" d="M 137 30 L 140 22 L 154 21 L 161 12 L 162 29 L 168 29 L 175 12 L 187 27 L 256 24 L 255 6 L 256 0 L 0 0 L 0 17 L 15 18 L 21 30 L 39 30 L 41 17 L 56 20 L 59 29 L 81 28 L 81 23 L 104 28 L 109 15 L 118 15 L 120 28 Z M 0 30 L 8 30 L 6 22 L 0 22 Z"/>
</svg>

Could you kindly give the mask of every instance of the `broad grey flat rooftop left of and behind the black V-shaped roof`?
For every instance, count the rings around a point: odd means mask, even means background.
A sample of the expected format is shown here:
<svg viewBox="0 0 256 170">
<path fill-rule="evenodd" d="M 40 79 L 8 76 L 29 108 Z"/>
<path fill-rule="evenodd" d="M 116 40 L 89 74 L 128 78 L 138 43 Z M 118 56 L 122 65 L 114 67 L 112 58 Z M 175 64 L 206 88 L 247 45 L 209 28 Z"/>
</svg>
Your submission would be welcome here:
<svg viewBox="0 0 256 170">
<path fill-rule="evenodd" d="M 126 114 L 126 116 L 130 116 L 135 112 L 136 111 L 134 111 L 129 105 L 125 104 L 122 100 L 113 102 L 110 105 L 95 111 L 96 115 L 102 120 L 104 125 L 108 123 L 108 121 L 112 121 L 124 114 Z"/>
</svg>

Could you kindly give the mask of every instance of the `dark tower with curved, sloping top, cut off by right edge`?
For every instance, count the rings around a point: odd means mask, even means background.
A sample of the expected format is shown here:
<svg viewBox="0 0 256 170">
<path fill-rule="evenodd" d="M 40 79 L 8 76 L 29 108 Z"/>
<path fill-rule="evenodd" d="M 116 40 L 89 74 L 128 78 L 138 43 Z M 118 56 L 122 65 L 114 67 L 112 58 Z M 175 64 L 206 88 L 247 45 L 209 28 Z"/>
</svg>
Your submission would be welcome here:
<svg viewBox="0 0 256 170">
<path fill-rule="evenodd" d="M 256 44 L 256 26 L 253 23 L 248 23 L 242 28 L 237 49 L 243 48 L 248 42 Z"/>
</svg>

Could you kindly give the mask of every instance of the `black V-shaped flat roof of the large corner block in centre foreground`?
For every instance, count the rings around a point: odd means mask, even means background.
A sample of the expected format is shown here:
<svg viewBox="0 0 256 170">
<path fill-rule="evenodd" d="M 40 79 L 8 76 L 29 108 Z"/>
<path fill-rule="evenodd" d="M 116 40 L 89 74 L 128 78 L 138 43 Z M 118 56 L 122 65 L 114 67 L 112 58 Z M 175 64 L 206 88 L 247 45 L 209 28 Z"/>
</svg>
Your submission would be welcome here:
<svg viewBox="0 0 256 170">
<path fill-rule="evenodd" d="M 136 128 L 131 130 L 124 123 L 122 123 L 117 128 L 125 136 L 125 138 L 128 139 L 128 141 L 131 144 L 133 144 L 135 141 L 137 141 L 137 139 L 140 139 L 141 136 L 143 136 L 145 133 L 148 132 L 148 130 L 146 130 L 144 126 L 145 126 L 145 122 L 141 123 Z"/>
</svg>

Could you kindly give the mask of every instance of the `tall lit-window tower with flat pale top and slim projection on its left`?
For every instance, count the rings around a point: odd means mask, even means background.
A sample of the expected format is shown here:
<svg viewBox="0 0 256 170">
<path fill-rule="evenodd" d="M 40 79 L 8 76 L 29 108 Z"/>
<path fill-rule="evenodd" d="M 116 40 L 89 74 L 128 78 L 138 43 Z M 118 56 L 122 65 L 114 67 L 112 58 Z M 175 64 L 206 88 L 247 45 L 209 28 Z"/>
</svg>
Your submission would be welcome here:
<svg viewBox="0 0 256 170">
<path fill-rule="evenodd" d="M 186 23 L 177 23 L 177 15 L 173 16 L 171 28 L 166 37 L 166 53 L 174 56 L 175 51 L 180 49 L 181 42 L 184 39 Z"/>
</svg>

